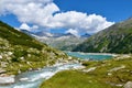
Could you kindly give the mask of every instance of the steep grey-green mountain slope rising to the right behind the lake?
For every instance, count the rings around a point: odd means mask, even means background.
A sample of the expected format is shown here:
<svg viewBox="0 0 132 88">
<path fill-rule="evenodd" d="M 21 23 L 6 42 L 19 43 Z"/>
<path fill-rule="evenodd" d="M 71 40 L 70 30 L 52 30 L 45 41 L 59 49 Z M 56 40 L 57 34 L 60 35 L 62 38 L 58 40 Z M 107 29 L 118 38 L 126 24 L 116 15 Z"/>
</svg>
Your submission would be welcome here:
<svg viewBox="0 0 132 88">
<path fill-rule="evenodd" d="M 92 35 L 77 45 L 74 52 L 132 53 L 132 18 Z"/>
</svg>

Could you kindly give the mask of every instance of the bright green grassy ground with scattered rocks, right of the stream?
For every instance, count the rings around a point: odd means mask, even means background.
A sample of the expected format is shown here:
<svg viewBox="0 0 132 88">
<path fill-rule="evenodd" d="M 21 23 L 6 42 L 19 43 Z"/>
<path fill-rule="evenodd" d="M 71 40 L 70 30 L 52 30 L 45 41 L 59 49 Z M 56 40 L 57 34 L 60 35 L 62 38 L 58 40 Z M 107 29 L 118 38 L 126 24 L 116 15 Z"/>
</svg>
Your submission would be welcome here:
<svg viewBox="0 0 132 88">
<path fill-rule="evenodd" d="M 86 68 L 57 73 L 40 88 L 132 88 L 132 55 L 82 65 Z"/>
</svg>

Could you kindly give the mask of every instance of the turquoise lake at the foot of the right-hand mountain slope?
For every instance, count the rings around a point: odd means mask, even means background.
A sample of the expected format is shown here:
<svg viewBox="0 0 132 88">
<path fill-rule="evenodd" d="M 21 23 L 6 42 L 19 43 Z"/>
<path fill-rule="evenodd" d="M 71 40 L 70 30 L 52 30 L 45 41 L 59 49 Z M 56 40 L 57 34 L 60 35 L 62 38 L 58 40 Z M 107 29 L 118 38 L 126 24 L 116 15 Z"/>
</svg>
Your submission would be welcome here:
<svg viewBox="0 0 132 88">
<path fill-rule="evenodd" d="M 91 53 L 79 53 L 79 52 L 66 52 L 69 56 L 75 56 L 80 59 L 88 59 L 88 61 L 102 61 L 102 59 L 110 59 L 112 55 L 110 54 L 91 54 Z"/>
</svg>

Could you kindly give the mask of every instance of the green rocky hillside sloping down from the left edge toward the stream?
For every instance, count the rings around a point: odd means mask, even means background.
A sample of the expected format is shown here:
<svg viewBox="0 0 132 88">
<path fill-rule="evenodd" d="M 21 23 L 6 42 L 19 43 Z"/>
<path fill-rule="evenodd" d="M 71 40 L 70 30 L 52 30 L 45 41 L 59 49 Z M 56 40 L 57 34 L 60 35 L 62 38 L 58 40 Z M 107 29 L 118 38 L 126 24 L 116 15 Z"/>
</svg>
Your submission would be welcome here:
<svg viewBox="0 0 132 88">
<path fill-rule="evenodd" d="M 42 68 L 68 56 L 0 21 L 0 76 Z"/>
</svg>

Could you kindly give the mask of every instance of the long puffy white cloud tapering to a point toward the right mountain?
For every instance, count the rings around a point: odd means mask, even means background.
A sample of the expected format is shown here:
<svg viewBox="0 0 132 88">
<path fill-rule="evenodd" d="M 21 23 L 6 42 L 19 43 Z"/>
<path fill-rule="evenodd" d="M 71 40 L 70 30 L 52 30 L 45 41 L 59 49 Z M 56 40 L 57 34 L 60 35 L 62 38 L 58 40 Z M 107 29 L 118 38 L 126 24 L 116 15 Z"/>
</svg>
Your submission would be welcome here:
<svg viewBox="0 0 132 88">
<path fill-rule="evenodd" d="M 77 11 L 57 13 L 47 22 L 48 28 L 76 29 L 78 32 L 98 32 L 114 22 L 108 22 L 106 18 L 97 14 L 87 14 Z"/>
</svg>

